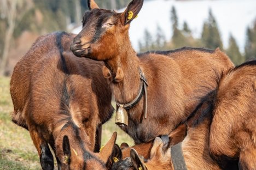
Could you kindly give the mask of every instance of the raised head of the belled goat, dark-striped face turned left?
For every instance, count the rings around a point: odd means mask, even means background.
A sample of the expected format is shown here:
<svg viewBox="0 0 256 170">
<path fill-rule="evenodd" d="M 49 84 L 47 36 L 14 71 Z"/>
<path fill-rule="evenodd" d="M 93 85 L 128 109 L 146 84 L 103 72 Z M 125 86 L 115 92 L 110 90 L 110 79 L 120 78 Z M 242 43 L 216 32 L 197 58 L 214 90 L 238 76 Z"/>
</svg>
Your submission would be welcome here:
<svg viewBox="0 0 256 170">
<path fill-rule="evenodd" d="M 71 50 L 78 57 L 108 60 L 130 45 L 130 22 L 141 10 L 143 0 L 133 0 L 124 11 L 99 9 L 89 0 L 89 9 L 83 16 L 83 29 L 73 39 Z"/>
</svg>

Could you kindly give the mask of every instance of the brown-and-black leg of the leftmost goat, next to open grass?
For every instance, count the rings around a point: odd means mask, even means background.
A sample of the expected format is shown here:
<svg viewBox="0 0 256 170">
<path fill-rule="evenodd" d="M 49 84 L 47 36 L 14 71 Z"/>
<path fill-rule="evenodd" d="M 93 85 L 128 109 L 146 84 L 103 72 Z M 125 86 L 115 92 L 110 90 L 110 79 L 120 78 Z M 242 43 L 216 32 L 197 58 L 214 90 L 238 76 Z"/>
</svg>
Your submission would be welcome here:
<svg viewBox="0 0 256 170">
<path fill-rule="evenodd" d="M 48 143 L 45 141 L 43 136 L 40 135 L 36 127 L 30 127 L 29 131 L 30 131 L 30 136 L 33 140 L 34 146 L 37 148 L 42 169 L 43 170 L 54 169 L 53 154 L 51 154 Z"/>
</svg>

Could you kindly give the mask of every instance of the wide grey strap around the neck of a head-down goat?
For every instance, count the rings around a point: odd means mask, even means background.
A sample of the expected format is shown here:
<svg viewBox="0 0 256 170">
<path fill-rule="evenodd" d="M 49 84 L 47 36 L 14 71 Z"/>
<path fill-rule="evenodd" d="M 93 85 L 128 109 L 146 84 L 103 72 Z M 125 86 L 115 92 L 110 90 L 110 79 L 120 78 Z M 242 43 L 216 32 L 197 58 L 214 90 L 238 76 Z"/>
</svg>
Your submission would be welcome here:
<svg viewBox="0 0 256 170">
<path fill-rule="evenodd" d="M 171 157 L 174 170 L 187 170 L 182 152 L 182 142 L 179 142 L 171 148 Z"/>
</svg>

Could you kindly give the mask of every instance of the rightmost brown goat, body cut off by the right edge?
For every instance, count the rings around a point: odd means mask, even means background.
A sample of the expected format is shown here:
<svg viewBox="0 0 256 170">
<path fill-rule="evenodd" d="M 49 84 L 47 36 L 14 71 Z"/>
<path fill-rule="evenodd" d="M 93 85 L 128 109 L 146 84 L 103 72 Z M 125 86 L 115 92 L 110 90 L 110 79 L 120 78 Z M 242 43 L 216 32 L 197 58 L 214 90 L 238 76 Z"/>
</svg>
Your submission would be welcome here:
<svg viewBox="0 0 256 170">
<path fill-rule="evenodd" d="M 210 151 L 223 168 L 256 169 L 256 60 L 237 66 L 219 82 Z M 229 163 L 229 164 L 228 164 Z"/>
</svg>

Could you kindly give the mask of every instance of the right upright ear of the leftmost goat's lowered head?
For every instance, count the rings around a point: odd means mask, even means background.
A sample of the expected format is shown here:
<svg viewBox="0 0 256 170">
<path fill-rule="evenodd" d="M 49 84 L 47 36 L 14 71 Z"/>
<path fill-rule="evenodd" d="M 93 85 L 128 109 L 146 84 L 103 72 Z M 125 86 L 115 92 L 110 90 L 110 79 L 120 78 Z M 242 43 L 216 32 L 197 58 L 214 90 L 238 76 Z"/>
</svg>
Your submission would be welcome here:
<svg viewBox="0 0 256 170">
<path fill-rule="evenodd" d="M 106 145 L 104 145 L 104 147 L 101 149 L 100 153 L 98 153 L 101 160 L 104 163 L 107 163 L 109 156 L 112 154 L 112 150 L 116 140 L 117 140 L 117 132 L 114 132 L 112 137 L 106 143 Z"/>
</svg>

